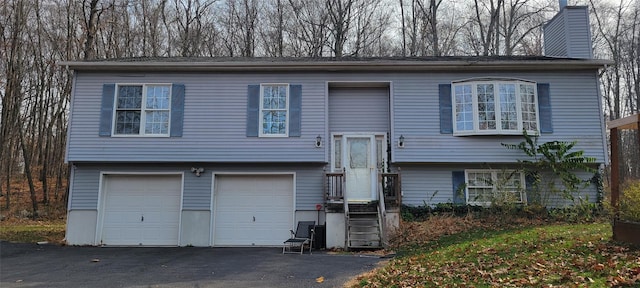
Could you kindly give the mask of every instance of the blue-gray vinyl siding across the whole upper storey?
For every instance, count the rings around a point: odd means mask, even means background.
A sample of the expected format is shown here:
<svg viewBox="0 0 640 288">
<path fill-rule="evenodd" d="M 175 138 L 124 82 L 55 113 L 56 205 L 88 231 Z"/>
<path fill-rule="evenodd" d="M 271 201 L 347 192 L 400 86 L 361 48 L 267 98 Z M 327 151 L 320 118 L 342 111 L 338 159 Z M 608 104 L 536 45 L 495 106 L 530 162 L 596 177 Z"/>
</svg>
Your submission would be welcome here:
<svg viewBox="0 0 640 288">
<path fill-rule="evenodd" d="M 326 163 L 330 159 L 331 146 L 331 131 L 327 125 L 332 123 L 333 129 L 336 123 L 326 119 L 333 117 L 326 111 L 332 105 L 327 91 L 327 82 L 331 81 L 392 83 L 391 115 L 394 119 L 390 121 L 393 126 L 389 130 L 393 137 L 391 143 L 394 143 L 391 145 L 394 163 L 514 163 L 522 159 L 518 151 L 509 151 L 500 145 L 518 143 L 522 140 L 519 136 L 459 137 L 440 133 L 438 85 L 473 77 L 509 77 L 549 83 L 554 130 L 543 134 L 539 141 L 577 140 L 576 149 L 596 157 L 598 163 L 604 162 L 603 119 L 594 70 L 566 73 L 160 73 L 140 77 L 82 72 L 77 75 L 73 95 L 68 159 L 71 162 Z M 301 137 L 246 137 L 247 85 L 283 82 L 302 85 Z M 99 137 L 103 83 L 185 84 L 183 136 Z M 362 115 L 352 119 L 345 116 L 345 120 L 340 121 L 356 122 L 359 117 Z M 373 129 L 384 128 L 382 122 L 372 123 L 379 123 L 372 125 L 376 126 Z M 347 129 L 342 127 L 336 129 Z M 314 145 L 318 135 L 323 138 L 321 148 Z M 405 137 L 404 148 L 395 145 L 400 135 Z"/>
</svg>

